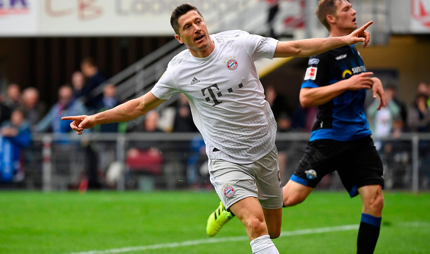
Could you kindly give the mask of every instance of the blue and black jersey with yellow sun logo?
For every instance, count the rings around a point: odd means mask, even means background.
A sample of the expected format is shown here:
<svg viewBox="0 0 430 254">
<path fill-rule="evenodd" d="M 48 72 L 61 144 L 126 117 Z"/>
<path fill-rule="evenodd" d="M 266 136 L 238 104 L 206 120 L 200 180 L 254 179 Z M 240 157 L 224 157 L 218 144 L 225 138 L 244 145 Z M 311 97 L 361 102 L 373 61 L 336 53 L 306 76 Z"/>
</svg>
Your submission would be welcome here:
<svg viewBox="0 0 430 254">
<path fill-rule="evenodd" d="M 363 60 L 355 46 L 343 46 L 310 57 L 301 88 L 332 85 L 365 71 Z M 319 105 L 310 141 L 348 141 L 369 136 L 371 132 L 364 112 L 365 96 L 365 89 L 348 90 Z"/>
</svg>

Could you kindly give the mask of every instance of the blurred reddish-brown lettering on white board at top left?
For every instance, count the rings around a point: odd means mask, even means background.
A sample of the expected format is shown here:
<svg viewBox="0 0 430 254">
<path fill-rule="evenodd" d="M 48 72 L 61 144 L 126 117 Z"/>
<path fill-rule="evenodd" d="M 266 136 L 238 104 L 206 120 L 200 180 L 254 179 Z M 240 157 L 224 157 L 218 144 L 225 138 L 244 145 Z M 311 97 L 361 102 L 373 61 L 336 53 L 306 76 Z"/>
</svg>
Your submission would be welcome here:
<svg viewBox="0 0 430 254">
<path fill-rule="evenodd" d="M 51 17 L 61 17 L 77 13 L 78 18 L 85 21 L 98 18 L 103 13 L 103 9 L 95 5 L 95 2 L 97 0 L 45 0 L 45 11 Z"/>
</svg>

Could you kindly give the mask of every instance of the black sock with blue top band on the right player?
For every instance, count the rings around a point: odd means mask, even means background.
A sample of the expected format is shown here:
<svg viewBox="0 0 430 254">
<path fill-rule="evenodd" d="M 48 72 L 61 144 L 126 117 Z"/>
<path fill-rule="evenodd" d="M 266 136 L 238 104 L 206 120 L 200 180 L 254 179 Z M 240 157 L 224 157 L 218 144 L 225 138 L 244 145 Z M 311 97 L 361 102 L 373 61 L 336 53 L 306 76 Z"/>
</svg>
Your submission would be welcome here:
<svg viewBox="0 0 430 254">
<path fill-rule="evenodd" d="M 357 254 L 372 254 L 378 242 L 381 228 L 381 217 L 361 214 L 361 222 L 357 237 Z"/>
</svg>

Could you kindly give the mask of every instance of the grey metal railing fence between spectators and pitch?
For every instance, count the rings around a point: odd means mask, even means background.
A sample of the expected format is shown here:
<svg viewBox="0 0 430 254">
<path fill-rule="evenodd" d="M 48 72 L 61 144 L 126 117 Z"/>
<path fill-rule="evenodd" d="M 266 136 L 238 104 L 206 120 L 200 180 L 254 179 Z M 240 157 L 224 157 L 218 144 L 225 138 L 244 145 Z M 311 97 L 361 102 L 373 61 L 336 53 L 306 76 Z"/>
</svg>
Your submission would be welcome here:
<svg viewBox="0 0 430 254">
<path fill-rule="evenodd" d="M 278 133 L 283 184 L 296 169 L 308 139 L 306 133 Z M 374 142 L 384 165 L 386 189 L 430 189 L 430 133 L 403 133 Z M 0 189 L 212 188 L 199 133 L 91 133 L 61 139 L 36 134 L 24 149 L 21 164 L 14 180 L 0 182 Z M 342 190 L 336 174 L 322 178 L 317 188 Z"/>
</svg>

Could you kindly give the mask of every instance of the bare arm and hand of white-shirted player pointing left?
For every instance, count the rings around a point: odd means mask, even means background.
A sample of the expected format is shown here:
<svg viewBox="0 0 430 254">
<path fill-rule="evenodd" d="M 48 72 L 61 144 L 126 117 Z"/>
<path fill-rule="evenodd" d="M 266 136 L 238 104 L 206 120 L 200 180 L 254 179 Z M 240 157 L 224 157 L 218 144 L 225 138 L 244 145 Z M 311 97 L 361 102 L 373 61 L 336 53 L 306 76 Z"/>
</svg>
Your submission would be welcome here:
<svg viewBox="0 0 430 254">
<path fill-rule="evenodd" d="M 70 127 L 78 135 L 81 135 L 84 129 L 92 128 L 97 124 L 126 122 L 138 118 L 165 101 L 158 99 L 149 91 L 139 98 L 129 100 L 113 109 L 95 115 L 65 116 L 61 120 L 72 120 L 73 122 L 71 122 Z"/>
</svg>

